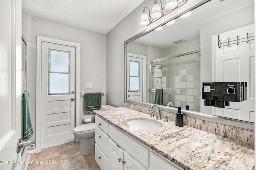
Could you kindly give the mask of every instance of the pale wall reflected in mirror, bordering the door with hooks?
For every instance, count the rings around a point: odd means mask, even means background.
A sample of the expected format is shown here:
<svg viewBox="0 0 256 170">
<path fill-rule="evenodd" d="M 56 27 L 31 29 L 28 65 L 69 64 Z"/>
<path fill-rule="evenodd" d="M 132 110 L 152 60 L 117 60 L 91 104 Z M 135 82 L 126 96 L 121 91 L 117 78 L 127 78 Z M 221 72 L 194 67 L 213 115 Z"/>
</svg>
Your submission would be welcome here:
<svg viewBox="0 0 256 170">
<path fill-rule="evenodd" d="M 201 25 L 201 70 L 204 70 L 201 72 L 201 82 L 212 82 L 212 36 L 253 24 L 252 14 L 254 14 L 254 5 Z M 201 112 L 212 113 L 212 107 L 204 106 L 204 100 L 201 100 Z"/>
</svg>

